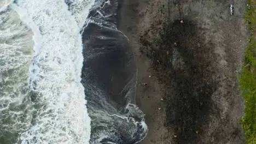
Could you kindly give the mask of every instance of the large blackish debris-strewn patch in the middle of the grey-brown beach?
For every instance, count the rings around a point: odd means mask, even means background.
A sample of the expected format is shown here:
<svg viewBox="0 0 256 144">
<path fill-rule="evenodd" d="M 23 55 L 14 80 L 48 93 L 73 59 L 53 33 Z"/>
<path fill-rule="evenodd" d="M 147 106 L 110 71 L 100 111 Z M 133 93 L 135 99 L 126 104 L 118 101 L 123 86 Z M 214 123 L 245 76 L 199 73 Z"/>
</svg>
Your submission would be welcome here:
<svg viewBox="0 0 256 144">
<path fill-rule="evenodd" d="M 166 127 L 174 128 L 174 141 L 197 143 L 209 113 L 218 109 L 211 99 L 217 89 L 214 45 L 205 42 L 202 29 L 191 20 L 159 24 L 140 36 L 140 50 L 152 60 L 152 69 L 165 86 Z"/>
</svg>

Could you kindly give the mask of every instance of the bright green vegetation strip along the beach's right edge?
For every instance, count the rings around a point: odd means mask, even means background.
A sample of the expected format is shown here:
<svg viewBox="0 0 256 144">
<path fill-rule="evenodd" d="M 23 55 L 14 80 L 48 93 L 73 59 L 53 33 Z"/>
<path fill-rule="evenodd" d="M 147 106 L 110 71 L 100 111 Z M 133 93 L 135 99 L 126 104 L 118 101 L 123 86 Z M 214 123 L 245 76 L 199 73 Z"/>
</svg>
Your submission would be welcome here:
<svg viewBox="0 0 256 144">
<path fill-rule="evenodd" d="M 239 77 L 245 100 L 245 115 L 241 118 L 246 143 L 256 143 L 256 1 L 248 0 L 245 20 L 249 30 L 241 75 Z"/>
</svg>

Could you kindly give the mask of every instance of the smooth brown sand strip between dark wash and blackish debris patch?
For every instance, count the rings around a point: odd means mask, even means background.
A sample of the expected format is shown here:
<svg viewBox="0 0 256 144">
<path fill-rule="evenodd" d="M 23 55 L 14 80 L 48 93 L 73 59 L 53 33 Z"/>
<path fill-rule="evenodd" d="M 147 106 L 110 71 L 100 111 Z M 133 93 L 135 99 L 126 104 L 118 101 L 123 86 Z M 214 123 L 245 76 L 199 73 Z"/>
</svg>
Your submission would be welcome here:
<svg viewBox="0 0 256 144">
<path fill-rule="evenodd" d="M 124 2 L 124 1 L 123 1 Z M 119 7 L 119 19 L 118 28 L 124 32 L 130 39 L 130 45 L 132 47 L 133 55 L 135 56 L 135 62 L 137 65 L 137 92 L 136 92 L 136 105 L 146 114 L 146 124 L 148 125 L 148 135 L 142 140 L 141 144 L 150 143 L 171 143 L 172 135 L 165 127 L 165 102 L 161 101 L 164 98 L 162 88 L 164 88 L 157 77 L 154 76 L 154 72 L 151 67 L 151 61 L 147 57 L 143 56 L 139 52 L 139 32 L 143 32 L 144 29 L 139 31 L 142 25 L 139 25 L 140 18 L 143 18 L 143 13 L 139 13 L 138 9 L 146 10 L 147 2 L 134 2 L 125 1 L 122 3 L 122 7 Z M 125 18 L 124 18 L 125 17 Z M 147 23 L 146 23 L 147 24 Z M 149 24 L 149 23 L 148 23 Z M 149 27 L 150 25 L 148 25 Z M 147 85 L 144 85 L 146 83 Z M 159 108 L 161 110 L 159 110 Z"/>
</svg>

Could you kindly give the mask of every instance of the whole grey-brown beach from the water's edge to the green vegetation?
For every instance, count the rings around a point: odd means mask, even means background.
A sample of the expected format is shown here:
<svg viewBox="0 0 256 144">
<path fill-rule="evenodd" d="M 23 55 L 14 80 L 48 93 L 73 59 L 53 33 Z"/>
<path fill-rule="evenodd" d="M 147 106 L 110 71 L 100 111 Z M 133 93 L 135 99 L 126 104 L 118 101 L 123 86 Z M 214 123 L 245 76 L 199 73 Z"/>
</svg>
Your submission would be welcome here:
<svg viewBox="0 0 256 144">
<path fill-rule="evenodd" d="M 149 127 L 141 143 L 245 143 L 236 77 L 246 2 L 129 0 L 119 10 L 138 67 L 137 105 Z"/>
</svg>

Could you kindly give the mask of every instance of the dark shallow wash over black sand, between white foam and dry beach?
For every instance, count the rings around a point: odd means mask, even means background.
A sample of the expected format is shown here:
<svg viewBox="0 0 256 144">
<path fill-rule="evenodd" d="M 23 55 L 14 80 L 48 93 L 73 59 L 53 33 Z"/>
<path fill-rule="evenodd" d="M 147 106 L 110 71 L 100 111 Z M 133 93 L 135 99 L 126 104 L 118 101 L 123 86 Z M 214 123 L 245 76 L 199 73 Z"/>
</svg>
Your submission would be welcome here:
<svg viewBox="0 0 256 144">
<path fill-rule="evenodd" d="M 95 1 L 83 27 L 82 83 L 91 117 L 90 143 L 132 144 L 148 132 L 135 105 L 137 68 L 118 30 L 118 1 Z"/>
</svg>

